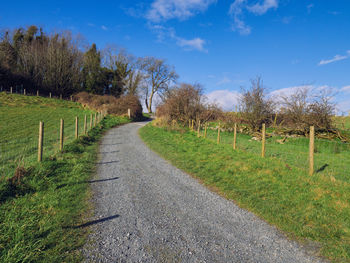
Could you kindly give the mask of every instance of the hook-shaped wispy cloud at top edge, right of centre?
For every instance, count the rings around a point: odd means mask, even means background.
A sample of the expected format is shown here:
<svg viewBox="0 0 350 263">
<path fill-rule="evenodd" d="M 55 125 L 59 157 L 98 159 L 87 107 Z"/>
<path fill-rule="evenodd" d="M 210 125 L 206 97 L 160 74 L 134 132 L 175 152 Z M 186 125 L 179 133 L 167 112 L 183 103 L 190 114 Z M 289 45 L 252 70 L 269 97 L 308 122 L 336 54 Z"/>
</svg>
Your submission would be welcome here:
<svg viewBox="0 0 350 263">
<path fill-rule="evenodd" d="M 243 20 L 244 11 L 255 15 L 263 15 L 270 9 L 278 8 L 278 0 L 260 0 L 251 5 L 249 0 L 235 0 L 229 10 L 229 14 L 233 18 L 232 30 L 238 31 L 241 35 L 249 35 L 251 27 L 246 25 Z"/>
</svg>

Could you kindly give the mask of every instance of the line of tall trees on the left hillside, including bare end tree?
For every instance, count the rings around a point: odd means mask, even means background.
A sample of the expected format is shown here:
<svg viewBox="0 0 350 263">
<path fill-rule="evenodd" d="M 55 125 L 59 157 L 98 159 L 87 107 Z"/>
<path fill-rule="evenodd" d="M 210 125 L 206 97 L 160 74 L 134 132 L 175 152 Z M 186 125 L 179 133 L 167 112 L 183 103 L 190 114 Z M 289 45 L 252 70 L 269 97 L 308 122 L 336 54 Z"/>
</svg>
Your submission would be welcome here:
<svg viewBox="0 0 350 263">
<path fill-rule="evenodd" d="M 70 32 L 47 34 L 42 28 L 4 30 L 0 38 L 0 86 L 68 97 L 87 91 L 120 97 L 140 95 L 149 112 L 153 98 L 178 78 L 163 59 L 136 58 L 125 50 L 95 44 L 83 47 Z"/>
</svg>

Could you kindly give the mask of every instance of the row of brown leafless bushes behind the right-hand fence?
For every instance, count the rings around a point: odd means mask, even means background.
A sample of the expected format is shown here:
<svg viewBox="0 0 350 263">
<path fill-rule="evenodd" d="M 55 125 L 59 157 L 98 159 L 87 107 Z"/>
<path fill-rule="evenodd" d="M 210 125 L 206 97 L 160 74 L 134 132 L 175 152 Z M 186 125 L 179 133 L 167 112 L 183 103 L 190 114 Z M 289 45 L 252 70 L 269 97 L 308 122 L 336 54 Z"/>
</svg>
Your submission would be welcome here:
<svg viewBox="0 0 350 263">
<path fill-rule="evenodd" d="M 259 131 L 262 124 L 278 125 L 286 132 L 307 134 L 310 126 L 318 131 L 334 132 L 333 115 L 335 104 L 329 90 L 312 91 L 299 88 L 288 95 L 271 98 L 261 78 L 251 81 L 251 86 L 242 89 L 240 113 L 224 113 L 217 105 L 208 103 L 200 85 L 181 84 L 164 94 L 163 103 L 157 108 L 157 116 L 168 123 L 173 120 L 187 125 L 195 120 L 205 123 L 210 120 L 228 123 L 244 123 L 250 131 Z"/>
</svg>

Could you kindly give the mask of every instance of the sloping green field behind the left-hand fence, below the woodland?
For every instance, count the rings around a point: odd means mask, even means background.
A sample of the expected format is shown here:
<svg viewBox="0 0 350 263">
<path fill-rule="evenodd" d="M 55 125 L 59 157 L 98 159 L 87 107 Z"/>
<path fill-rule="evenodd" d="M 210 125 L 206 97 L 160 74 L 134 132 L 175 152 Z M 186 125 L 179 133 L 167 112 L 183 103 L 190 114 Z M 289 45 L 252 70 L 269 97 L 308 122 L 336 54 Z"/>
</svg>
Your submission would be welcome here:
<svg viewBox="0 0 350 263">
<path fill-rule="evenodd" d="M 59 99 L 0 93 L 0 178 L 12 174 L 19 163 L 37 158 L 39 122 L 44 122 L 44 156 L 59 149 L 60 119 L 65 121 L 65 143 L 74 140 L 75 117 L 83 130 L 84 110 L 80 104 Z"/>
</svg>

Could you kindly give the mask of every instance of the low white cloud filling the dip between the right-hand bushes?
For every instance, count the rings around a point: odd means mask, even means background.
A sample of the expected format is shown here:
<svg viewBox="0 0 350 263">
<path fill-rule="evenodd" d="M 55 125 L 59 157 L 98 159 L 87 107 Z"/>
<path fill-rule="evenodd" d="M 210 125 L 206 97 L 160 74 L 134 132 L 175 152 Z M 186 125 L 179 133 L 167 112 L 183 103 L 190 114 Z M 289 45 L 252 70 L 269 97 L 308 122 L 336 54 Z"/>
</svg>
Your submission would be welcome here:
<svg viewBox="0 0 350 263">
<path fill-rule="evenodd" d="M 240 93 L 229 90 L 215 90 L 206 94 L 208 102 L 217 103 L 219 107 L 226 111 L 233 111 L 238 105 Z"/>
</svg>

